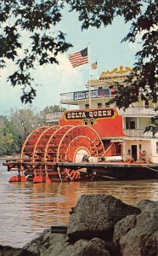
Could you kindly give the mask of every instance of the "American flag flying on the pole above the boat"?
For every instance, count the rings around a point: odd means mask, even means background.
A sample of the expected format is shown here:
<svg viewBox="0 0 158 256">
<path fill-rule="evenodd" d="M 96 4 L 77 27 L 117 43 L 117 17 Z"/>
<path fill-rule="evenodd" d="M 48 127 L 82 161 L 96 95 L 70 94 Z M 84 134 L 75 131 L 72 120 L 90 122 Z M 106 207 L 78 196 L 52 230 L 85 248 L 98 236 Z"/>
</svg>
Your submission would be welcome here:
<svg viewBox="0 0 158 256">
<path fill-rule="evenodd" d="M 72 55 L 69 55 L 69 61 L 71 61 L 72 67 L 77 67 L 88 63 L 87 60 L 87 48 L 82 49 Z"/>
</svg>

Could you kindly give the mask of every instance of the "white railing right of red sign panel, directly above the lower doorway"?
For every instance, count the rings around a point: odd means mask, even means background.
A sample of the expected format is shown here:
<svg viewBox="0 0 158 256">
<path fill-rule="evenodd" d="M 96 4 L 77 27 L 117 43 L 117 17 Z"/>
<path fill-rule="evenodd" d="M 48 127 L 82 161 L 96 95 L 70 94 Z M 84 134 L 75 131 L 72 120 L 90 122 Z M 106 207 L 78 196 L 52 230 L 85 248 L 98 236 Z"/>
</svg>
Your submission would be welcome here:
<svg viewBox="0 0 158 256">
<path fill-rule="evenodd" d="M 124 129 L 127 137 L 157 137 L 158 132 L 153 134 L 152 131 L 144 132 L 144 129 Z"/>
</svg>

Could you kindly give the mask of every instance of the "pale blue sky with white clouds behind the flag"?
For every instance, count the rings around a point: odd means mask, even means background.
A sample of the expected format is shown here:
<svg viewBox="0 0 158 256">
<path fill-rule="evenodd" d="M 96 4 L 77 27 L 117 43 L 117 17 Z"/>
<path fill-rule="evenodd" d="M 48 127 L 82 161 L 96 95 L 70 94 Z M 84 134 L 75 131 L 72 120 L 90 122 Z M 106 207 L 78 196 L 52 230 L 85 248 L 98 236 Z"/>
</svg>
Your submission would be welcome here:
<svg viewBox="0 0 158 256">
<path fill-rule="evenodd" d="M 97 70 L 91 70 L 92 79 L 97 79 L 103 71 L 116 67 L 133 67 L 138 44 L 121 43 L 122 38 L 129 32 L 130 24 L 125 24 L 121 17 L 116 17 L 111 26 L 101 26 L 99 29 L 90 27 L 82 31 L 81 25 L 76 13 L 64 13 L 58 28 L 66 33 L 66 41 L 73 47 L 58 56 L 59 65 L 36 68 L 35 81 L 41 85 L 36 87 L 37 96 L 31 105 L 21 103 L 20 87 L 13 87 L 6 82 L 8 75 L 14 71 L 14 66 L 9 64 L 7 68 L 0 70 L 0 114 L 8 115 L 11 108 L 32 108 L 39 112 L 47 106 L 59 105 L 60 93 L 86 90 L 89 79 L 88 64 L 73 68 L 68 55 L 85 49 L 89 43 L 90 65 L 94 61 L 98 62 Z"/>
</svg>

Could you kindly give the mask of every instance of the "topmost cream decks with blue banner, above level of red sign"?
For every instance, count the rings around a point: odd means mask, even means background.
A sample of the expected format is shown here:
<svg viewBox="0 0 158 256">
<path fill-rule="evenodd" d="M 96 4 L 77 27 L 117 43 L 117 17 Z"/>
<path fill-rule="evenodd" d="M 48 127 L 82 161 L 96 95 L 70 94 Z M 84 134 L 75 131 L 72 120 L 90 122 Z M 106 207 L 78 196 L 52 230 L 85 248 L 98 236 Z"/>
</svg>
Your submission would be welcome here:
<svg viewBox="0 0 158 256">
<path fill-rule="evenodd" d="M 79 90 L 60 94 L 60 104 L 73 107 L 83 108 L 108 108 L 115 107 L 116 104 L 109 103 L 114 97 L 115 90 L 126 85 L 125 81 L 132 72 L 130 67 L 115 68 L 112 71 L 101 73 L 99 79 L 91 79 L 87 82 L 87 90 Z M 151 117 L 155 115 L 155 108 L 158 104 L 153 102 L 134 102 L 125 111 L 118 109 L 122 116 L 143 116 Z M 70 109 L 70 108 L 69 108 Z"/>
</svg>

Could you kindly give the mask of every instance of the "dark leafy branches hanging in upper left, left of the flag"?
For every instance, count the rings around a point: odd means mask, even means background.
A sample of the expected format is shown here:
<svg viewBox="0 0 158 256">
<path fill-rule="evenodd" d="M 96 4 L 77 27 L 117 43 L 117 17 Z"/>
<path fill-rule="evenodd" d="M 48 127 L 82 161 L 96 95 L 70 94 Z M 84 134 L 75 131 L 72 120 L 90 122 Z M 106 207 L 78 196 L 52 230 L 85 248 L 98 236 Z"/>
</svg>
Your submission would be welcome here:
<svg viewBox="0 0 158 256">
<path fill-rule="evenodd" d="M 14 61 L 17 70 L 8 77 L 13 85 L 19 84 L 23 91 L 22 102 L 32 102 L 37 94 L 31 76 L 38 65 L 57 64 L 56 56 L 71 47 L 65 42 L 63 32 L 54 32 L 61 20 L 62 1 L 47 0 L 1 0 L 0 25 L 0 67 L 6 66 L 6 59 Z M 28 35 L 30 45 L 21 44 L 22 34 Z M 18 56 L 18 51 L 21 54 Z"/>
</svg>

